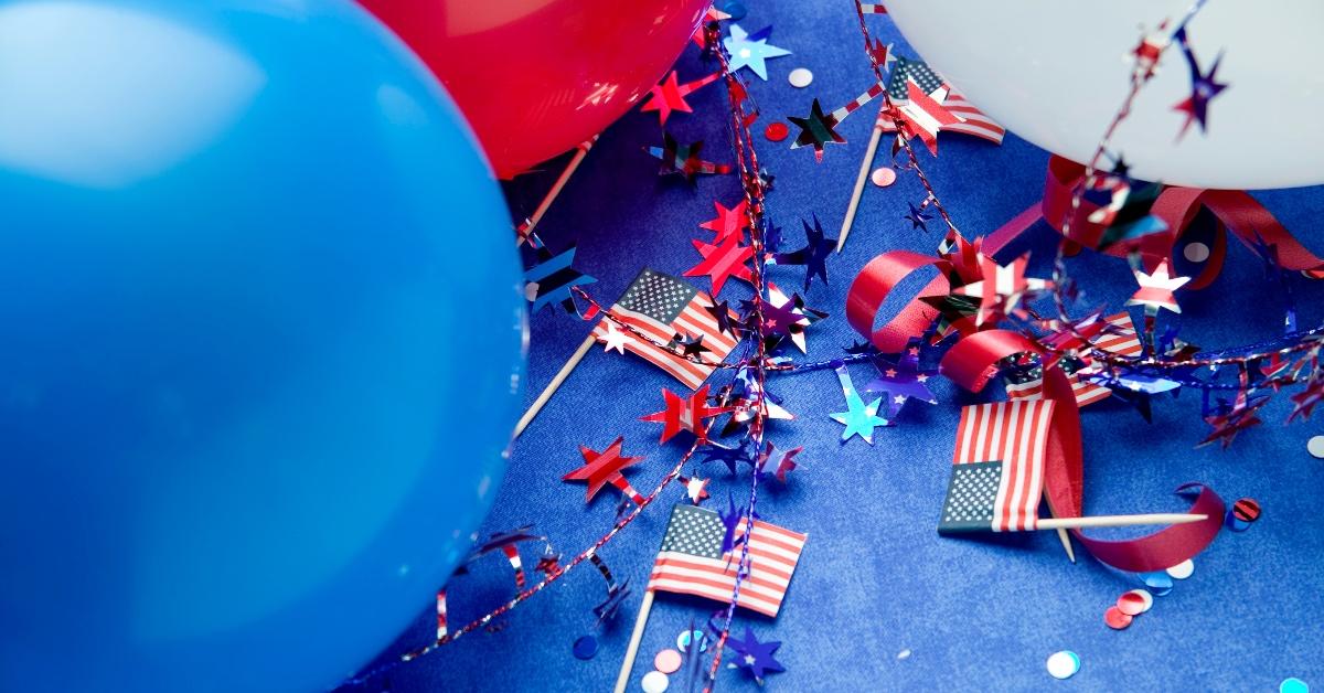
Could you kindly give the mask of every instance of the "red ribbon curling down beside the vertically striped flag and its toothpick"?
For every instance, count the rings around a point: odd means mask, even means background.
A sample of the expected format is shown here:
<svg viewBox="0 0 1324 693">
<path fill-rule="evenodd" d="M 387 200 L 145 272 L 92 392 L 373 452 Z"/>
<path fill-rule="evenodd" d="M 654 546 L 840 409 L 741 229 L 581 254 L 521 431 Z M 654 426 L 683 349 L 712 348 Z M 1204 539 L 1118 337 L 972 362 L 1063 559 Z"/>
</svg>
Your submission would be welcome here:
<svg viewBox="0 0 1324 693">
<path fill-rule="evenodd" d="M 957 342 L 943 356 L 939 370 L 956 384 L 978 392 L 997 372 L 1000 360 L 1026 351 L 1038 348 L 1019 333 L 986 330 Z M 1043 497 L 1054 515 L 1083 517 L 1080 412 L 1071 382 L 1061 368 L 1045 368 L 1043 396 L 1054 401 L 1053 424 L 1043 452 Z M 1190 507 L 1190 513 L 1206 515 L 1200 522 L 1173 525 L 1139 539 L 1095 539 L 1080 530 L 1072 530 L 1072 534 L 1096 559 L 1119 570 L 1149 572 L 1176 566 L 1209 546 L 1223 521 L 1222 498 L 1201 485 L 1188 484 L 1178 490 L 1192 486 L 1201 488 Z"/>
</svg>

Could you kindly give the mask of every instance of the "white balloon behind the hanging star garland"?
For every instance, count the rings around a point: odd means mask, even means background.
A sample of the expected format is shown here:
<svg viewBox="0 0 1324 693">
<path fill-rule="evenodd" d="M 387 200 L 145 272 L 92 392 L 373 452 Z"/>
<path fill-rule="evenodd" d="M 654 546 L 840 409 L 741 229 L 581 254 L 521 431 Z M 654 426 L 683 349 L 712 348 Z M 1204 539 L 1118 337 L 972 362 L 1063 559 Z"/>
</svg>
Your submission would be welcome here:
<svg viewBox="0 0 1324 693">
<path fill-rule="evenodd" d="M 1180 20 L 1190 0 L 890 0 L 906 40 L 953 86 L 1022 138 L 1088 159 L 1129 89 L 1141 28 Z M 1202 72 L 1223 52 L 1209 131 L 1173 106 L 1190 94 L 1180 46 L 1117 129 L 1133 176 L 1205 188 L 1324 183 L 1324 3 L 1210 1 L 1188 25 Z"/>
</svg>

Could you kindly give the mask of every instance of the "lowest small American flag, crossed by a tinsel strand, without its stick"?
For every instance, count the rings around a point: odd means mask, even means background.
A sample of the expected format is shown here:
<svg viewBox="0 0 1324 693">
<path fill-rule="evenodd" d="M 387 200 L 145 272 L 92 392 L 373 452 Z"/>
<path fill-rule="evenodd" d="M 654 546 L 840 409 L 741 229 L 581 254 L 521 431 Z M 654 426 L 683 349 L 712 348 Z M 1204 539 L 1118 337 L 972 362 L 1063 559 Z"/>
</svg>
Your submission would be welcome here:
<svg viewBox="0 0 1324 693">
<path fill-rule="evenodd" d="M 649 575 L 649 590 L 698 595 L 731 603 L 736 586 L 736 568 L 743 546 L 723 553 L 726 525 L 715 510 L 688 504 L 671 510 L 662 549 Z M 745 521 L 736 526 L 736 537 L 745 533 Z M 790 575 L 800 562 L 808 534 L 790 531 L 761 519 L 753 521 L 749 543 L 749 575 L 740 580 L 737 607 L 776 616 L 786 596 Z"/>
</svg>

